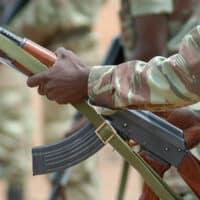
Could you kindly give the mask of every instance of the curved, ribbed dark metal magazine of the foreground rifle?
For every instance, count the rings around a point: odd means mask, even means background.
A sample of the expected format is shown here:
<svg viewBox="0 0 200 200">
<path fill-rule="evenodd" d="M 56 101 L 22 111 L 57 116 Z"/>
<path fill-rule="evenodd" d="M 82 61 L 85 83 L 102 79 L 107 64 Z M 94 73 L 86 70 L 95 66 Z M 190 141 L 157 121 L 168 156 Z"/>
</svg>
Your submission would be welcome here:
<svg viewBox="0 0 200 200">
<path fill-rule="evenodd" d="M 87 159 L 104 144 L 88 124 L 61 142 L 32 149 L 33 175 L 69 168 Z"/>
</svg>

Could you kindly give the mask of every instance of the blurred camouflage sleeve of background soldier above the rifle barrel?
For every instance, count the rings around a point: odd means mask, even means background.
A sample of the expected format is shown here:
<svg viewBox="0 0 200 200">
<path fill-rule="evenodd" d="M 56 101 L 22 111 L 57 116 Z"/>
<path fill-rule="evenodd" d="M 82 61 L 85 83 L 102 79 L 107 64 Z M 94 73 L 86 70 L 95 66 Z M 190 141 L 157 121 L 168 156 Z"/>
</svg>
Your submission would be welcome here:
<svg viewBox="0 0 200 200">
<path fill-rule="evenodd" d="M 90 30 L 102 4 L 103 0 L 30 0 L 7 28 L 47 45 L 59 33 L 70 37 L 73 31 Z"/>
</svg>

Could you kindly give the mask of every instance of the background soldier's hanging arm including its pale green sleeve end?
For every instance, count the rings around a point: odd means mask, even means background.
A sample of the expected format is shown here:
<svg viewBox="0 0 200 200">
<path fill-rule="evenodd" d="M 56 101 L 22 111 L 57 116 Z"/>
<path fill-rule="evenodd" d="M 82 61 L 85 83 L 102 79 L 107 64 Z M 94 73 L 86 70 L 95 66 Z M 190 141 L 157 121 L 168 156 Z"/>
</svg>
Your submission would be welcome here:
<svg viewBox="0 0 200 200">
<path fill-rule="evenodd" d="M 135 39 L 130 39 L 134 43 L 132 60 L 149 61 L 157 55 L 165 56 L 169 32 L 168 15 L 173 12 L 173 1 L 132 0 L 129 4 L 135 32 L 135 36 L 132 36 Z M 124 32 L 126 33 L 126 30 Z M 124 46 L 129 48 L 126 43 Z"/>
</svg>

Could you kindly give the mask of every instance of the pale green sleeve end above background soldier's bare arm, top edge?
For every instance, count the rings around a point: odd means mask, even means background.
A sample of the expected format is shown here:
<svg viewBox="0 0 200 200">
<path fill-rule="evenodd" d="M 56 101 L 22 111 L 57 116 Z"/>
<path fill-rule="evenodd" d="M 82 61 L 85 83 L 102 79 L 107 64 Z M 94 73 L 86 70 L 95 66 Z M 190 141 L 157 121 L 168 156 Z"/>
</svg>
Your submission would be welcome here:
<svg viewBox="0 0 200 200">
<path fill-rule="evenodd" d="M 173 0 L 130 0 L 133 16 L 172 13 Z"/>
</svg>

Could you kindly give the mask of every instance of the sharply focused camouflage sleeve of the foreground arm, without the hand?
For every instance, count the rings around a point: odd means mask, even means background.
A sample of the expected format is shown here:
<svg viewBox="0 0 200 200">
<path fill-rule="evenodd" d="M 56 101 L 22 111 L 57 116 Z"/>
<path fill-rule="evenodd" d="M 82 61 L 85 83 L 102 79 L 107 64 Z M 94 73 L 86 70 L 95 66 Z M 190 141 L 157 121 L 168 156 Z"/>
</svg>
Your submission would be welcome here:
<svg viewBox="0 0 200 200">
<path fill-rule="evenodd" d="M 92 68 L 88 80 L 92 104 L 152 111 L 200 100 L 200 26 L 184 37 L 178 54 L 149 62 L 129 61 Z"/>
</svg>

